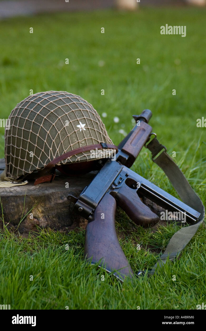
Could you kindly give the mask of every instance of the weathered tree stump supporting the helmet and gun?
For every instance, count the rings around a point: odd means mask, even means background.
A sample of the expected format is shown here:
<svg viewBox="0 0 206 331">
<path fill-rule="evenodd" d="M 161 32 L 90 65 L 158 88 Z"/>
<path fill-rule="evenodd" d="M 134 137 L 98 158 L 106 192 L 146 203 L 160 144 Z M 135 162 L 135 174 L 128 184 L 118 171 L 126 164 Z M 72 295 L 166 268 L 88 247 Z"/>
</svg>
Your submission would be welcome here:
<svg viewBox="0 0 206 331">
<path fill-rule="evenodd" d="M 0 159 L 0 172 L 4 167 L 4 159 Z M 72 195 L 78 197 L 95 175 L 96 172 L 93 171 L 86 175 L 69 177 L 57 171 L 52 183 L 34 186 L 34 181 L 30 181 L 22 186 L 0 188 L 5 224 L 9 222 L 9 227 L 18 227 L 20 233 L 36 231 L 36 225 L 66 231 L 76 227 L 85 229 L 87 220 L 73 212 L 74 204 L 68 201 L 67 195 L 72 192 Z M 154 213 L 160 215 L 162 208 L 149 199 L 141 199 Z"/>
</svg>

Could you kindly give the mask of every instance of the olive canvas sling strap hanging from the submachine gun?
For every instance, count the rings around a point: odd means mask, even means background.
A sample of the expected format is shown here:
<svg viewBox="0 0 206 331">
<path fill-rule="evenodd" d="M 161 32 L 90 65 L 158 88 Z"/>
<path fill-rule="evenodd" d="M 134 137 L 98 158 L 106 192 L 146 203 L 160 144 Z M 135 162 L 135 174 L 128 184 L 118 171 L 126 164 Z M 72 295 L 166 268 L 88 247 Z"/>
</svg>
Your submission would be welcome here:
<svg viewBox="0 0 206 331">
<path fill-rule="evenodd" d="M 150 150 L 152 153 L 152 161 L 164 171 L 183 202 L 200 213 L 199 219 L 195 224 L 182 227 L 172 236 L 164 254 L 160 256 L 159 260 L 150 271 L 150 274 L 154 274 L 158 266 L 162 266 L 166 263 L 167 258 L 171 261 L 174 260 L 185 248 L 203 222 L 205 209 L 201 199 L 193 191 L 180 168 L 166 153 L 166 147 L 161 145 L 156 139 L 156 135 L 145 147 Z M 163 149 L 164 151 L 158 155 Z"/>
</svg>

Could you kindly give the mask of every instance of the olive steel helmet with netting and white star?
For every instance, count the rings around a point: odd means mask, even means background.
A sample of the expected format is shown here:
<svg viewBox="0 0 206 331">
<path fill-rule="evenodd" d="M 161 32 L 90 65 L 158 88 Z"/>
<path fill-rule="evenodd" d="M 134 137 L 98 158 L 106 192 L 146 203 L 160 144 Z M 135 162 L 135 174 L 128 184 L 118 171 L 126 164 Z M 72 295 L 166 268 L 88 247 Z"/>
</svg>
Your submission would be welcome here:
<svg viewBox="0 0 206 331">
<path fill-rule="evenodd" d="M 5 180 L 20 181 L 32 172 L 45 175 L 54 166 L 61 169 L 62 165 L 92 161 L 91 150 L 98 150 L 97 159 L 117 150 L 92 105 L 67 92 L 28 96 L 13 109 L 8 123 Z"/>
</svg>

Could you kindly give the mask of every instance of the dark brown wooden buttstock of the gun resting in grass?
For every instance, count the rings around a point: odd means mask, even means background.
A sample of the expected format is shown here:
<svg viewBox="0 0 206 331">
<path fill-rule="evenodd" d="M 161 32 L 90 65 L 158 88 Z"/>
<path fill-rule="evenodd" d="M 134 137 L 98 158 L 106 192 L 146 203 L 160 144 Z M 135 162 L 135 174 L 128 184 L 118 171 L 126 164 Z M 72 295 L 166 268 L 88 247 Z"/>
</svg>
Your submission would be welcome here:
<svg viewBox="0 0 206 331">
<path fill-rule="evenodd" d="M 115 231 L 116 201 L 105 194 L 94 212 L 94 220 L 88 223 L 85 237 L 85 257 L 92 258 L 92 263 L 113 272 L 124 280 L 132 278 L 133 271 L 119 244 Z M 118 271 L 116 273 L 115 271 Z"/>
</svg>

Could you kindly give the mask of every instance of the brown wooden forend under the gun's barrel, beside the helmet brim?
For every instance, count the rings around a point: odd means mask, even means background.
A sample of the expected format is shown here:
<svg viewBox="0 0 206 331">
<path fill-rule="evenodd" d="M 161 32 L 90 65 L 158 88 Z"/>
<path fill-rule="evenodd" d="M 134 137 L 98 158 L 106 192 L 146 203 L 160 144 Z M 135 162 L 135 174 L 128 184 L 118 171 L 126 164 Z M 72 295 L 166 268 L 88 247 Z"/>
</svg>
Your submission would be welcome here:
<svg viewBox="0 0 206 331">
<path fill-rule="evenodd" d="M 137 126 L 122 148 L 122 152 L 129 155 L 125 166 L 130 168 L 133 165 L 151 132 L 152 127 L 144 121 L 141 121 L 140 126 Z"/>
</svg>

